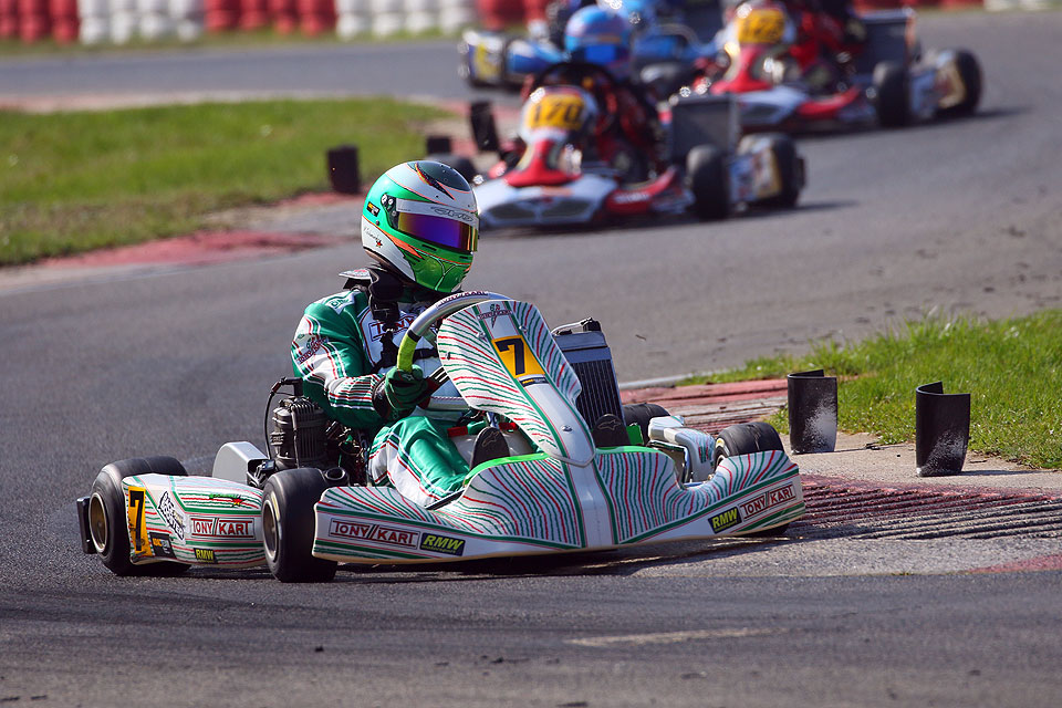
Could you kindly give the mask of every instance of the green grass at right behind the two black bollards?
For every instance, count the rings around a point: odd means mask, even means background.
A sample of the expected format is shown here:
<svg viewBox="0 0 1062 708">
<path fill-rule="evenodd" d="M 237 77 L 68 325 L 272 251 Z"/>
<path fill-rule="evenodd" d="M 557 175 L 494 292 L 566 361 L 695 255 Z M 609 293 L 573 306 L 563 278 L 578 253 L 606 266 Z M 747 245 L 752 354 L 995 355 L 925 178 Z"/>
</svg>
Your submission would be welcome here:
<svg viewBox="0 0 1062 708">
<path fill-rule="evenodd" d="M 1062 468 L 1062 310 L 982 322 L 927 319 L 854 344 L 821 342 L 804 357 L 758 358 L 711 381 L 774 378 L 824 368 L 840 377 L 837 424 L 884 442 L 915 435 L 915 388 L 969 393 L 969 449 Z M 704 383 L 707 377 L 684 383 Z M 771 423 L 788 430 L 787 412 Z"/>
</svg>

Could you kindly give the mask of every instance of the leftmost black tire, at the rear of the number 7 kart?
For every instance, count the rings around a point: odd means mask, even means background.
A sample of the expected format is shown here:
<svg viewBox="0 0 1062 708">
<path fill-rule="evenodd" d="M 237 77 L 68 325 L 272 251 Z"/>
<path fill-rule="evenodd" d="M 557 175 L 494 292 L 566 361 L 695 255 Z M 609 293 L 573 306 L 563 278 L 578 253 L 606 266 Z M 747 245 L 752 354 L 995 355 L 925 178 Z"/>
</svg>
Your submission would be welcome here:
<svg viewBox="0 0 1062 708">
<path fill-rule="evenodd" d="M 160 561 L 134 565 L 129 560 L 129 530 L 122 480 L 136 475 L 187 477 L 184 465 L 173 457 L 135 457 L 111 462 L 96 475 L 88 493 L 88 530 L 103 564 L 115 575 L 169 576 L 188 570 L 185 563 Z"/>
</svg>

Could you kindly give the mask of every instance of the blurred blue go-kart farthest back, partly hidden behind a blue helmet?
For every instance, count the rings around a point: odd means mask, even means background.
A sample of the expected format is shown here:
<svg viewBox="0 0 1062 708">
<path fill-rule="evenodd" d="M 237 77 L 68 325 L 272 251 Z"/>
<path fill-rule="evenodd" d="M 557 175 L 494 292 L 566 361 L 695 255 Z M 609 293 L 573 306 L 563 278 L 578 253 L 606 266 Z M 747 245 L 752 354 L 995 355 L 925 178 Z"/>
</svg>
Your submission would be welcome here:
<svg viewBox="0 0 1062 708">
<path fill-rule="evenodd" d="M 466 29 L 457 48 L 458 74 L 477 88 L 519 90 L 530 77 L 565 60 L 564 28 L 577 4 L 550 3 L 546 31 L 539 37 Z M 716 0 L 689 0 L 680 10 L 652 0 L 607 4 L 632 17 L 634 80 L 660 97 L 688 84 L 695 63 L 716 53 L 715 37 L 722 27 Z"/>
</svg>

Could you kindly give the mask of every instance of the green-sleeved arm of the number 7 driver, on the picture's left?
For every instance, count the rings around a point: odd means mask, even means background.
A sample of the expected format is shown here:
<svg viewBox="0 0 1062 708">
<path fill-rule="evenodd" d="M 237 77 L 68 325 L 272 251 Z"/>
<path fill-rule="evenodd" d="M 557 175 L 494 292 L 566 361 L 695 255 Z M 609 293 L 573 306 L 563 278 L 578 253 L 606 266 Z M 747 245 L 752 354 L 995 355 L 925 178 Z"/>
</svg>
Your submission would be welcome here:
<svg viewBox="0 0 1062 708">
<path fill-rule="evenodd" d="M 377 429 L 384 419 L 373 408 L 373 389 L 383 376 L 371 373 L 354 308 L 327 300 L 312 303 L 291 343 L 291 362 L 306 395 L 330 418 L 352 428 Z"/>
</svg>

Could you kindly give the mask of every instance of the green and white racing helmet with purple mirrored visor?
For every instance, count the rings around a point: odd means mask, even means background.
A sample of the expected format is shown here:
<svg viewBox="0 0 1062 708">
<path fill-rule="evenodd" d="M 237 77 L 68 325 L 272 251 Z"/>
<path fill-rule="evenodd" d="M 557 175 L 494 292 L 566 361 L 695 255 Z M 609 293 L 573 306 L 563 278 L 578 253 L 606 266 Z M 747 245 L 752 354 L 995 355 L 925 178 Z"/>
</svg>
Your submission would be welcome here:
<svg viewBox="0 0 1062 708">
<path fill-rule="evenodd" d="M 362 247 L 409 284 L 455 292 L 479 240 L 476 196 L 456 169 L 416 160 L 388 169 L 362 209 Z"/>
</svg>

